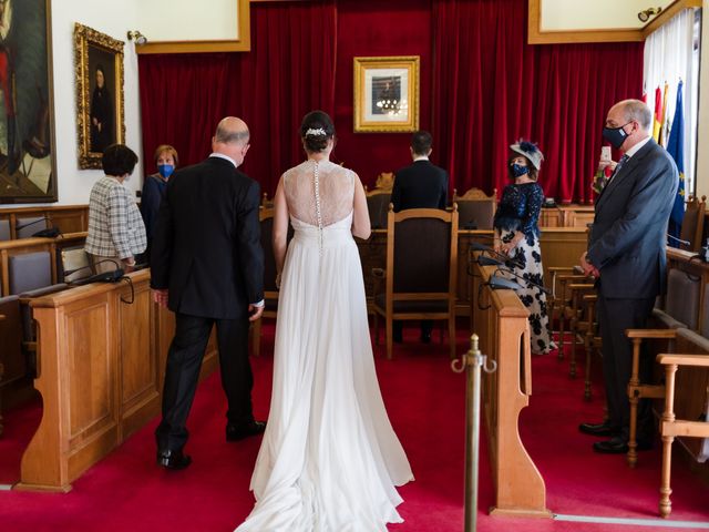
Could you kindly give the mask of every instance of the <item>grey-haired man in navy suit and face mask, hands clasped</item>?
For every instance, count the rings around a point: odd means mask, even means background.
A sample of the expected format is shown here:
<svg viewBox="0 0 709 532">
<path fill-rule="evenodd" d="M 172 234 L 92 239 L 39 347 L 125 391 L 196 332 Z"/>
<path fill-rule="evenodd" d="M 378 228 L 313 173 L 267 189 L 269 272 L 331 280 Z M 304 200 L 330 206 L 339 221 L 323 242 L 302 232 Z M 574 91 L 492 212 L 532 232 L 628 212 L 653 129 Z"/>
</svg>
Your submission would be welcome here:
<svg viewBox="0 0 709 532">
<path fill-rule="evenodd" d="M 579 430 L 610 437 L 594 443 L 605 453 L 628 451 L 633 346 L 625 329 L 644 328 L 655 298 L 665 288 L 666 233 L 679 177 L 675 162 L 650 136 L 653 113 L 639 100 L 624 100 L 608 111 L 604 137 L 624 152 L 596 202 L 588 250 L 580 263 L 597 278 L 603 337 L 603 372 L 608 420 L 583 423 Z M 640 375 L 651 375 L 643 357 Z M 645 405 L 643 405 L 645 402 Z M 638 409 L 638 449 L 651 446 L 648 400 Z"/>
</svg>

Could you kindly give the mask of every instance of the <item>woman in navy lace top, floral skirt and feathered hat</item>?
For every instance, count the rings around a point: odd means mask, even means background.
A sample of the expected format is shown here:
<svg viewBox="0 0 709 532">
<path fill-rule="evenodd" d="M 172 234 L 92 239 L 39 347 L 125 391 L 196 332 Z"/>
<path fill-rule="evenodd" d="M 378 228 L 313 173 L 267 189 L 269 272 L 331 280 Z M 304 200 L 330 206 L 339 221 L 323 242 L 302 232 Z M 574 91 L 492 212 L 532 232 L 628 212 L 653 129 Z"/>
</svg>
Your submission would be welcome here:
<svg viewBox="0 0 709 532">
<path fill-rule="evenodd" d="M 495 212 L 495 250 L 508 255 L 512 277 L 522 289 L 520 299 L 530 310 L 532 352 L 546 355 L 556 347 L 552 342 L 546 310 L 544 268 L 540 248 L 540 213 L 544 191 L 536 182 L 544 155 L 531 142 L 520 140 L 510 146 L 507 173 L 513 183 L 505 186 Z"/>
</svg>

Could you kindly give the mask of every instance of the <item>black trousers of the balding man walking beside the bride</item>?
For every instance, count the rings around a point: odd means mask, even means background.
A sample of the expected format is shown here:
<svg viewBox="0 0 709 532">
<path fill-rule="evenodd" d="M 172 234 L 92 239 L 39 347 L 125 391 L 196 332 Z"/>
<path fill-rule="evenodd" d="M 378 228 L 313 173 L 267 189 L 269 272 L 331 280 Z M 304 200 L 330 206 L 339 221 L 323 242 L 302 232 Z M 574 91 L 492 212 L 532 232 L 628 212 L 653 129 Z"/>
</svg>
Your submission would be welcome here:
<svg viewBox="0 0 709 532">
<path fill-rule="evenodd" d="M 157 448 L 182 449 L 188 438 L 187 416 L 197 390 L 202 360 L 212 327 L 217 328 L 222 387 L 226 393 L 229 424 L 254 420 L 254 375 L 248 360 L 248 318 L 215 319 L 175 314 L 175 337 L 167 352 L 163 388 L 163 419 L 155 430 Z"/>
</svg>

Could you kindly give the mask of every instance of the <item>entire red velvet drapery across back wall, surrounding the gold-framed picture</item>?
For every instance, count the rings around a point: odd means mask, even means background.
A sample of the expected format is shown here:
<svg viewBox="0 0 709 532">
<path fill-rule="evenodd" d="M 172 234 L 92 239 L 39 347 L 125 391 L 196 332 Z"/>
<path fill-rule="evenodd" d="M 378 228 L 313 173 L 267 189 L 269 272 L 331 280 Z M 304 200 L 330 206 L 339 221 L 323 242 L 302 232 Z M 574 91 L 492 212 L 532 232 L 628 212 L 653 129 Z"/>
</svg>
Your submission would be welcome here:
<svg viewBox="0 0 709 532">
<path fill-rule="evenodd" d="M 617 100 L 637 98 L 643 44 L 526 44 L 527 0 L 312 0 L 251 6 L 251 51 L 141 55 L 145 167 L 161 143 L 182 164 L 209 152 L 216 122 L 242 116 L 251 130 L 244 170 L 273 194 L 302 160 L 297 129 L 329 112 L 342 161 L 373 184 L 408 164 L 409 134 L 352 133 L 352 58 L 420 55 L 420 126 L 451 190 L 506 184 L 507 145 L 540 144 L 547 196 L 588 202 L 600 129 Z"/>
</svg>

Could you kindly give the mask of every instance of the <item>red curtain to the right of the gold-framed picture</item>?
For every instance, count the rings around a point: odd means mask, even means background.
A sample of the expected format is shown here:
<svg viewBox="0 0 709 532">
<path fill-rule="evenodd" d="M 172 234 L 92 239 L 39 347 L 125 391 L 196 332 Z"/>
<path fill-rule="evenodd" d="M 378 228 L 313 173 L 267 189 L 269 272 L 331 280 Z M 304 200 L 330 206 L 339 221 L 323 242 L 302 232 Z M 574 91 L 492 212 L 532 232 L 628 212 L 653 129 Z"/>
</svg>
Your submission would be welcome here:
<svg viewBox="0 0 709 532">
<path fill-rule="evenodd" d="M 507 146 L 525 137 L 546 195 L 587 203 L 608 108 L 641 95 L 643 43 L 530 45 L 526 7 L 434 0 L 433 137 L 461 193 L 502 193 Z"/>
</svg>

